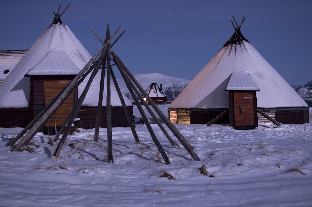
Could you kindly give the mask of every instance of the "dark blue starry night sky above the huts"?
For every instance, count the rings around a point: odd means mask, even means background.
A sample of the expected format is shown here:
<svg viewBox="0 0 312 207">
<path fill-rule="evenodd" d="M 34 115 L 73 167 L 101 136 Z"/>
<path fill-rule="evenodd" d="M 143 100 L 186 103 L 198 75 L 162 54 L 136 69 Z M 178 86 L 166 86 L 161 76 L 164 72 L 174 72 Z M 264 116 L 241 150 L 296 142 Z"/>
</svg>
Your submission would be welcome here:
<svg viewBox="0 0 312 207">
<path fill-rule="evenodd" d="M 125 34 L 112 48 L 133 74 L 161 73 L 192 80 L 234 33 L 231 20 L 290 85 L 312 80 L 312 1 L 54 0 L 0 1 L 0 50 L 29 49 L 60 13 L 93 56 L 105 39 Z M 119 32 L 120 34 L 120 32 Z"/>
</svg>

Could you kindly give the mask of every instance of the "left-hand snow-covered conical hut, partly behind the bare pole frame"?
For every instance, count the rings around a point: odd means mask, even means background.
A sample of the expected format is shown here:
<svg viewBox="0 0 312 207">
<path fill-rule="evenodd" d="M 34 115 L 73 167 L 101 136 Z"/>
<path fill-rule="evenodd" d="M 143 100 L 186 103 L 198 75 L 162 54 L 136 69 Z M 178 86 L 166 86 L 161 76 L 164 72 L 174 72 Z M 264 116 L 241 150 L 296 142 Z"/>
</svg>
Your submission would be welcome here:
<svg viewBox="0 0 312 207">
<path fill-rule="evenodd" d="M 66 25 L 60 22 L 51 24 L 0 85 L 0 127 L 26 127 L 90 59 L 91 55 Z M 84 90 L 88 77 L 46 122 L 42 128 L 45 134 L 54 134 L 55 129 L 61 128 Z M 78 127 L 95 127 L 99 84 L 100 73 L 95 76 L 77 114 Z M 106 91 L 104 93 L 106 97 Z M 118 97 L 112 82 L 111 94 L 111 97 Z M 124 100 L 132 115 L 131 102 L 126 96 Z M 112 126 L 129 126 L 120 100 L 111 99 L 110 107 Z M 100 127 L 106 127 L 105 101 L 101 117 Z"/>
</svg>

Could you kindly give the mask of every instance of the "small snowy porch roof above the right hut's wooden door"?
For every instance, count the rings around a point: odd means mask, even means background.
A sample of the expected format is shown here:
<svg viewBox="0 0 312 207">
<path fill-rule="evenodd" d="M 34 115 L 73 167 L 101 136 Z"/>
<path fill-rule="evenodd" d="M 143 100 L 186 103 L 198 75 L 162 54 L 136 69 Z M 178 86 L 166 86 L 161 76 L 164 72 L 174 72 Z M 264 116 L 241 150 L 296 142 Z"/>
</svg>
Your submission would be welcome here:
<svg viewBox="0 0 312 207">
<path fill-rule="evenodd" d="M 255 82 L 245 71 L 235 71 L 232 73 L 227 83 L 227 91 L 260 91 Z"/>
</svg>

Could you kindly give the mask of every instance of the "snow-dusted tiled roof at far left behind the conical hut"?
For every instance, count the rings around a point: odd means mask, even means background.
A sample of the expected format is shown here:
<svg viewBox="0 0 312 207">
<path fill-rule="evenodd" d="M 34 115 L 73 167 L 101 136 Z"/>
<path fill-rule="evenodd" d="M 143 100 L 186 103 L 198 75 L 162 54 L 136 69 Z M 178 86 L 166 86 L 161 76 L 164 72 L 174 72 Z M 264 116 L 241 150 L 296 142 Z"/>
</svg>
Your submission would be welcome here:
<svg viewBox="0 0 312 207">
<path fill-rule="evenodd" d="M 0 50 L 0 82 L 2 82 L 24 57 L 28 49 Z"/>
</svg>

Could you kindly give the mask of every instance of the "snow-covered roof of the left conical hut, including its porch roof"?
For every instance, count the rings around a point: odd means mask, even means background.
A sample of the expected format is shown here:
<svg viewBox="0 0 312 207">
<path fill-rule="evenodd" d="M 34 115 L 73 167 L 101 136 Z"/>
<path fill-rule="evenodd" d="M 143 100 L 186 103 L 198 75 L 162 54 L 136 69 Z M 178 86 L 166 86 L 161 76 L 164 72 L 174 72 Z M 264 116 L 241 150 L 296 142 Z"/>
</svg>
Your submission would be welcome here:
<svg viewBox="0 0 312 207">
<path fill-rule="evenodd" d="M 0 108 L 26 108 L 30 102 L 30 78 L 24 75 L 73 75 L 79 73 L 91 59 L 90 54 L 66 25 L 51 24 L 32 45 L 27 54 L 14 67 L 12 72 L 0 85 Z M 88 78 L 88 77 L 87 77 Z M 83 102 L 84 106 L 97 106 L 99 96 L 100 73 L 95 77 Z M 83 91 L 87 80 L 78 87 L 78 95 Z M 111 83 L 113 85 L 113 83 Z M 112 86 L 112 94 L 116 93 Z M 96 94 L 97 95 L 90 95 Z M 106 92 L 104 94 L 106 97 Z M 95 97 L 97 98 L 95 98 Z M 112 106 L 121 106 L 121 102 L 113 100 Z M 118 95 L 117 95 L 118 97 Z M 127 106 L 131 102 L 124 96 Z M 106 101 L 103 101 L 106 106 Z"/>
</svg>

